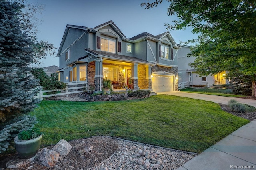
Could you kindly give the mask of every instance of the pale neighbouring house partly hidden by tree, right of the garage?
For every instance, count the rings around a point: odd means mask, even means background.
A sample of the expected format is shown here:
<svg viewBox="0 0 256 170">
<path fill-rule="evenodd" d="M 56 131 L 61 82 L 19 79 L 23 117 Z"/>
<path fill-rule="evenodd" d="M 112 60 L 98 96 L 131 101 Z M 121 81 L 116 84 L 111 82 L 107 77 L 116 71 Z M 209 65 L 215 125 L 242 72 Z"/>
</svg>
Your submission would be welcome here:
<svg viewBox="0 0 256 170">
<path fill-rule="evenodd" d="M 196 57 L 186 57 L 193 48 L 187 45 L 180 45 L 182 49 L 178 50 L 178 79 L 179 83 L 189 81 L 190 86 L 212 86 L 213 84 L 228 84 L 225 75 L 226 71 L 222 71 L 216 75 L 205 75 L 200 77 L 196 73 L 196 69 L 190 67 L 188 64 L 192 63 Z"/>
</svg>

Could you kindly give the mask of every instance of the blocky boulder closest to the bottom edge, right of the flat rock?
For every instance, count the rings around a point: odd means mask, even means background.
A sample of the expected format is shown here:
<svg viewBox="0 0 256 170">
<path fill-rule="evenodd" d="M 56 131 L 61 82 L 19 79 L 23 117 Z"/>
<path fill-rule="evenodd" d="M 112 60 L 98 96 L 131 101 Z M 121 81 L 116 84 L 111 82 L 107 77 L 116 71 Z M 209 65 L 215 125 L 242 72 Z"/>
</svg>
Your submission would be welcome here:
<svg viewBox="0 0 256 170">
<path fill-rule="evenodd" d="M 44 166 L 53 167 L 58 162 L 59 156 L 60 154 L 55 150 L 43 148 L 39 160 L 42 162 Z"/>
</svg>

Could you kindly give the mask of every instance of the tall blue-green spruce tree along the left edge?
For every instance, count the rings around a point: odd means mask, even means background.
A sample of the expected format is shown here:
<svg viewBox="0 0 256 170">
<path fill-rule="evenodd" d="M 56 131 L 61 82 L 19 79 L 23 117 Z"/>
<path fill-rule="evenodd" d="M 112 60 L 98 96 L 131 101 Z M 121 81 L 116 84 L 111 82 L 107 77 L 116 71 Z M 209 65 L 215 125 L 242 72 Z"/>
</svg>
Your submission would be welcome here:
<svg viewBox="0 0 256 170">
<path fill-rule="evenodd" d="M 0 153 L 18 132 L 34 126 L 28 114 L 36 107 L 33 99 L 38 82 L 26 73 L 33 59 L 33 42 L 22 32 L 21 7 L 16 2 L 0 1 Z"/>
</svg>

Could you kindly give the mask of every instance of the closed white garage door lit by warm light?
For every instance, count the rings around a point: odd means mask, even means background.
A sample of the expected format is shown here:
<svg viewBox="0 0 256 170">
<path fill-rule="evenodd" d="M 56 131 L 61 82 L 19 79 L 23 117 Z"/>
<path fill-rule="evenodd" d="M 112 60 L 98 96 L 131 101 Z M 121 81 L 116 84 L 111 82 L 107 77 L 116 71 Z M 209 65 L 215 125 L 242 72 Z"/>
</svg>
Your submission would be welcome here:
<svg viewBox="0 0 256 170">
<path fill-rule="evenodd" d="M 173 77 L 170 75 L 153 75 L 152 89 L 154 92 L 173 91 Z"/>
</svg>

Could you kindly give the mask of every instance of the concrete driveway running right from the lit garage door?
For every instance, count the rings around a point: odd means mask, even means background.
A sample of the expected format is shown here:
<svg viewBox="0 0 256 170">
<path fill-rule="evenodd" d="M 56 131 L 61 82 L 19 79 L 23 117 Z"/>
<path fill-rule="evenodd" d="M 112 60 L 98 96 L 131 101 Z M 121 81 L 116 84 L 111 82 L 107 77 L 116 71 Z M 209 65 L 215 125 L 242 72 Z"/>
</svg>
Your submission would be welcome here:
<svg viewBox="0 0 256 170">
<path fill-rule="evenodd" d="M 188 93 L 188 92 L 181 92 L 181 91 L 168 91 L 168 92 L 157 92 L 157 94 L 165 94 L 165 95 L 174 95 L 180 97 L 188 97 L 192 99 L 201 99 L 206 101 L 212 101 L 214 103 L 221 103 L 221 104 L 228 104 L 228 101 L 231 99 L 235 99 L 240 103 L 248 104 L 251 106 L 256 107 L 256 100 L 251 99 L 242 99 L 237 97 L 224 97 L 224 96 L 215 96 L 215 95 L 204 95 L 198 93 Z"/>
</svg>

